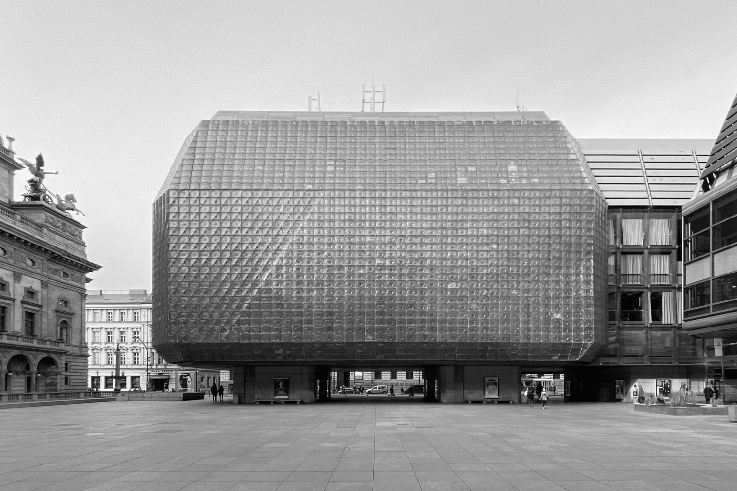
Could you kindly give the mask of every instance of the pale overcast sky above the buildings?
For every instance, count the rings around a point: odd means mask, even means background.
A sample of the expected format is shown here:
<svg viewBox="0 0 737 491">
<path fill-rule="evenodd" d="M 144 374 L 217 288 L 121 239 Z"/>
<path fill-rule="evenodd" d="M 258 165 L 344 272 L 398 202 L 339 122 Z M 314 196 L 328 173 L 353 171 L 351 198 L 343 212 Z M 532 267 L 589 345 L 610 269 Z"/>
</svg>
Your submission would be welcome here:
<svg viewBox="0 0 737 491">
<path fill-rule="evenodd" d="M 716 138 L 737 2 L 0 2 L 0 133 L 86 216 L 91 289 L 151 287 L 151 205 L 217 110 L 543 110 L 577 138 Z M 30 175 L 17 174 L 15 197 Z"/>
</svg>

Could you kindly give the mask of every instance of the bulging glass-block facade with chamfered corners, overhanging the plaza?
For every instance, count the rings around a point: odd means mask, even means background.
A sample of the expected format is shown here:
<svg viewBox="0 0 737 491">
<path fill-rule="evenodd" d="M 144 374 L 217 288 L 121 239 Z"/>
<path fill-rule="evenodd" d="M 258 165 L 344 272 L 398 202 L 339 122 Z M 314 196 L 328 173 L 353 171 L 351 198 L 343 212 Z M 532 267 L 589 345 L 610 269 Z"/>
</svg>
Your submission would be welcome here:
<svg viewBox="0 0 737 491">
<path fill-rule="evenodd" d="M 218 113 L 186 139 L 154 204 L 167 361 L 565 362 L 604 347 L 607 204 L 559 121 L 319 114 Z"/>
</svg>

